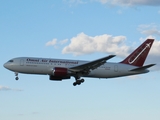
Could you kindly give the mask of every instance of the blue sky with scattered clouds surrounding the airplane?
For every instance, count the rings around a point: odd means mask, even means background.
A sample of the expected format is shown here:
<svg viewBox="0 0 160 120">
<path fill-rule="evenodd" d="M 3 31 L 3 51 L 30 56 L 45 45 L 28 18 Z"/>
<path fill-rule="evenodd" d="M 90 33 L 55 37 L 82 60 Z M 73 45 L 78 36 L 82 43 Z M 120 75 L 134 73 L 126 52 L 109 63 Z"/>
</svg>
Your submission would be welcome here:
<svg viewBox="0 0 160 120">
<path fill-rule="evenodd" d="M 3 120 L 159 120 L 160 2 L 157 0 L 0 1 L 0 118 Z M 144 75 L 49 81 L 3 64 L 20 56 L 119 62 L 154 38 Z M 99 46 L 99 47 L 95 47 Z"/>
</svg>

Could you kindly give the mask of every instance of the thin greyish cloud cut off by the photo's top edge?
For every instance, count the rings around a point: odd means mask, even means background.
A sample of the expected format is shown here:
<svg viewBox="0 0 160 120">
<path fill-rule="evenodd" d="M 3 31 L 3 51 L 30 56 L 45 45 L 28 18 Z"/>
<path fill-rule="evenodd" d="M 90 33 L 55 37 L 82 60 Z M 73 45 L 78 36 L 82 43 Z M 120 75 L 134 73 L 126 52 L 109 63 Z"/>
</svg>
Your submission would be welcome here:
<svg viewBox="0 0 160 120">
<path fill-rule="evenodd" d="M 133 5 L 148 5 L 148 6 L 159 6 L 159 0 L 95 0 L 102 4 L 122 5 L 122 6 L 133 6 Z"/>
</svg>

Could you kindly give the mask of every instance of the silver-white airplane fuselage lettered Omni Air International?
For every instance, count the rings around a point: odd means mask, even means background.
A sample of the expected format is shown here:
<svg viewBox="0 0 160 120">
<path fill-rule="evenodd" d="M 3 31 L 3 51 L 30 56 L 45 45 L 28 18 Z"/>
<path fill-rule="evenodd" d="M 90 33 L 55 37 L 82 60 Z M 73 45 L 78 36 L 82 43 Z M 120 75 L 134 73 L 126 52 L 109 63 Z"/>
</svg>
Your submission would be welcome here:
<svg viewBox="0 0 160 120">
<path fill-rule="evenodd" d="M 81 60 L 65 60 L 65 59 L 50 59 L 50 58 L 33 58 L 33 57 L 19 57 L 12 59 L 13 62 L 7 62 L 4 64 L 5 68 L 25 74 L 41 74 L 41 75 L 53 75 L 53 69 L 70 68 L 77 65 L 87 63 L 88 61 Z M 123 63 L 111 63 L 107 62 L 94 70 L 90 70 L 89 74 L 82 75 L 82 77 L 94 77 L 94 78 L 114 78 L 121 76 L 128 76 L 134 74 L 142 74 L 149 72 L 148 69 L 142 71 L 130 71 L 131 69 L 138 68 L 136 66 L 123 64 Z M 68 71 L 68 75 L 70 72 Z"/>
</svg>

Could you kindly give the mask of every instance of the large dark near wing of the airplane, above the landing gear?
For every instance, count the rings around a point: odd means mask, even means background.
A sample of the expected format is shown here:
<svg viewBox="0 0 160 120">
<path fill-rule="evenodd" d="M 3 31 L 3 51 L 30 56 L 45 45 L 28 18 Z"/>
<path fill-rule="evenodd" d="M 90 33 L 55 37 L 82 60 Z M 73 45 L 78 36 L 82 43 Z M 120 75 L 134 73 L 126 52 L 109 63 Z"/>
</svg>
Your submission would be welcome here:
<svg viewBox="0 0 160 120">
<path fill-rule="evenodd" d="M 91 62 L 87 62 L 87 63 L 81 64 L 81 65 L 78 65 L 78 66 L 71 67 L 71 68 L 69 68 L 69 70 L 74 71 L 74 72 L 79 72 L 79 71 L 82 71 L 82 70 L 89 71 L 90 69 L 94 70 L 97 67 L 106 63 L 107 60 L 109 60 L 109 59 L 111 59 L 115 56 L 116 55 L 109 55 L 109 56 L 106 56 L 106 57 L 103 57 L 103 58 L 100 58 L 100 59 L 97 59 L 97 60 L 93 60 Z"/>
</svg>

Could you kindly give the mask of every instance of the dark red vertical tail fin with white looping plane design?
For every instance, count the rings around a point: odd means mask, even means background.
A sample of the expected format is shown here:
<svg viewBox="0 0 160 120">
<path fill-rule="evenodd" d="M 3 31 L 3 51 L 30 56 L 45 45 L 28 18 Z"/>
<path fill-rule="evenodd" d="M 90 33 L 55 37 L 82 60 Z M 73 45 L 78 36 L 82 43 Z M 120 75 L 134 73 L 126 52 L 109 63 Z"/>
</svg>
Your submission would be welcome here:
<svg viewBox="0 0 160 120">
<path fill-rule="evenodd" d="M 141 67 L 152 47 L 154 39 L 147 39 L 135 51 L 133 51 L 126 59 L 120 63 Z"/>
</svg>

